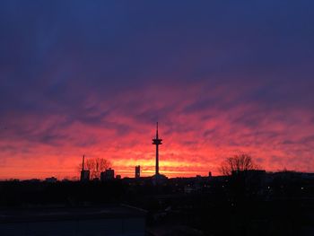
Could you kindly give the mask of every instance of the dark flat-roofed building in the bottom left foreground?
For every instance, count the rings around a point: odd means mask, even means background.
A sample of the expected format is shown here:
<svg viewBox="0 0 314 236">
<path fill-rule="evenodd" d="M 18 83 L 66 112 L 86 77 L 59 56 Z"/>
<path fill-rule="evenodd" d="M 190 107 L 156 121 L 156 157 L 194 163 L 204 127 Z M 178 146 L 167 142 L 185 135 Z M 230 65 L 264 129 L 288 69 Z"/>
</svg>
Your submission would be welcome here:
<svg viewBox="0 0 314 236">
<path fill-rule="evenodd" d="M 34 207 L 0 214 L 1 236 L 145 235 L 146 212 L 127 205 Z"/>
</svg>

